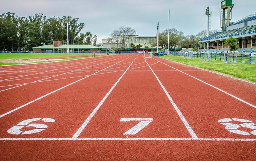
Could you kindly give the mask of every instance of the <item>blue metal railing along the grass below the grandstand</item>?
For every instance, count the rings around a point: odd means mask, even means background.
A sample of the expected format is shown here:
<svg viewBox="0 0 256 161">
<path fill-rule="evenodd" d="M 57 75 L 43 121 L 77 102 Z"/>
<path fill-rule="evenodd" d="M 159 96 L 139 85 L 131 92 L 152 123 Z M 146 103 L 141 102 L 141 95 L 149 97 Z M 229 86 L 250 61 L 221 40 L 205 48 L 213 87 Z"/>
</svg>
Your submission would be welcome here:
<svg viewBox="0 0 256 161">
<path fill-rule="evenodd" d="M 170 55 L 218 60 L 225 63 L 250 63 L 256 64 L 256 51 L 171 51 Z"/>
</svg>

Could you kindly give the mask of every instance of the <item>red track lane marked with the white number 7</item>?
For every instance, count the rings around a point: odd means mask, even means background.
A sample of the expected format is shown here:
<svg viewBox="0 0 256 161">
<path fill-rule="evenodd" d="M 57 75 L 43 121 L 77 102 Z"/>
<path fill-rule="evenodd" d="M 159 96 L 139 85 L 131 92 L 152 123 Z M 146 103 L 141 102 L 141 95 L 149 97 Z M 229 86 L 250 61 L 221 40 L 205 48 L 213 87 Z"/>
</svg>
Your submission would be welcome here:
<svg viewBox="0 0 256 161">
<path fill-rule="evenodd" d="M 127 71 L 79 137 L 191 137 L 152 71 L 148 70 L 145 59 L 142 55 L 137 59 L 134 63 L 144 63 L 133 68 L 141 72 Z M 121 118 L 152 118 L 153 121 L 135 135 L 124 135 L 138 121 L 120 122 Z"/>
</svg>

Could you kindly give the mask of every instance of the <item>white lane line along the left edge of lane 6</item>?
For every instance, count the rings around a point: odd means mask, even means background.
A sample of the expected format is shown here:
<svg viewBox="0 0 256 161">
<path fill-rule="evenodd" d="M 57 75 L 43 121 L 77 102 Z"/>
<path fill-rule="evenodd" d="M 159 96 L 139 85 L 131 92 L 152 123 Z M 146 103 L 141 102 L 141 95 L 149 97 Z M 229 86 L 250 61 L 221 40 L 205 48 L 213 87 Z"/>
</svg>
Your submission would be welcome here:
<svg viewBox="0 0 256 161">
<path fill-rule="evenodd" d="M 131 56 L 131 57 L 132 57 L 132 56 Z M 128 58 L 130 58 L 130 57 L 128 57 Z M 126 58 L 126 59 L 128 59 L 128 58 Z M 126 60 L 126 59 L 123 59 L 122 61 L 124 61 L 124 60 Z M 120 63 L 120 62 L 122 62 L 122 61 L 119 61 L 119 62 L 117 62 L 116 64 L 118 64 L 118 63 Z M 113 64 L 113 65 L 116 65 L 116 64 Z M 109 66 L 109 67 L 112 67 L 113 65 L 111 65 L 111 66 Z M 103 70 L 105 70 L 105 69 L 107 69 L 107 68 L 108 68 L 108 67 L 106 67 L 106 68 L 104 68 L 104 69 L 102 69 L 102 70 L 100 70 L 100 71 L 103 71 Z M 20 108 L 23 108 L 23 107 L 25 107 L 25 106 L 27 106 L 27 105 L 29 105 L 29 104 L 32 104 L 33 102 L 36 102 L 37 100 L 40 100 L 40 99 L 42 99 L 42 98 L 44 98 L 44 97 L 46 97 L 46 96 L 48 96 L 48 95 L 50 95 L 50 94 L 53 94 L 53 93 L 55 93 L 55 92 L 58 92 L 59 90 L 62 90 L 63 88 L 66 88 L 66 87 L 68 87 L 68 86 L 70 86 L 70 85 L 72 85 L 72 84 L 75 84 L 76 82 L 80 82 L 80 81 L 82 81 L 82 80 L 84 80 L 84 79 L 86 79 L 86 78 L 88 78 L 88 77 L 90 77 L 90 76 L 92 76 L 92 75 L 95 75 L 96 73 L 99 73 L 100 71 L 95 72 L 95 73 L 93 73 L 93 74 L 91 74 L 91 75 L 88 75 L 88 76 L 86 76 L 86 77 L 84 77 L 84 78 L 82 78 L 82 79 L 79 79 L 78 81 L 72 82 L 72 83 L 70 83 L 70 84 L 68 84 L 68 85 L 66 85 L 66 86 L 63 86 L 63 87 L 61 87 L 61 88 L 58 88 L 57 90 L 54 90 L 54 91 L 52 91 L 52 92 L 50 92 L 50 93 L 47 93 L 47 94 L 45 94 L 44 96 L 41 96 L 41 97 L 39 97 L 39 98 L 36 98 L 35 100 L 32 100 L 32 101 L 30 101 L 30 102 L 28 102 L 28 103 L 26 103 L 26 104 L 24 104 L 24 105 L 22 105 L 22 106 L 19 106 L 19 107 L 13 109 L 13 110 L 10 110 L 9 112 L 6 112 L 6 113 L 0 115 L 0 118 L 4 117 L 4 116 L 6 116 L 6 115 L 8 115 L 8 114 L 10 114 L 10 113 L 12 113 L 12 112 L 15 112 L 16 110 L 19 110 Z"/>
</svg>

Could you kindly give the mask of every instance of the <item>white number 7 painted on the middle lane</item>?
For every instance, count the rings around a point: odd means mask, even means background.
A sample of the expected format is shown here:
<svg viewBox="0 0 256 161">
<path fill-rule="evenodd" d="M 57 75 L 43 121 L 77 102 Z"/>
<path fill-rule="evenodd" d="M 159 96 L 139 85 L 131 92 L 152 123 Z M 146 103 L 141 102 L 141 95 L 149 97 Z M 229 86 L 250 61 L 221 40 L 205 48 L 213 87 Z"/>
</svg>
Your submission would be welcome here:
<svg viewBox="0 0 256 161">
<path fill-rule="evenodd" d="M 135 135 L 140 130 L 145 128 L 150 122 L 153 121 L 153 118 L 121 118 L 120 122 L 129 122 L 129 121 L 140 121 L 138 124 L 136 124 L 134 127 L 132 127 L 130 130 L 125 132 L 123 135 Z"/>
</svg>

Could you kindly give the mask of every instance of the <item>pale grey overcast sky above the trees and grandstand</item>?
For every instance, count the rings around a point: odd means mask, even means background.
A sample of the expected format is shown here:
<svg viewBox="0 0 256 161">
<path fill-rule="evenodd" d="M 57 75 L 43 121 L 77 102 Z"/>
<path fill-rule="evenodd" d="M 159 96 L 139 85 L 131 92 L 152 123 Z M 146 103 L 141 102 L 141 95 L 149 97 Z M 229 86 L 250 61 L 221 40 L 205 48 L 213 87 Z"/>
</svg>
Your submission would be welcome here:
<svg viewBox="0 0 256 161">
<path fill-rule="evenodd" d="M 207 28 L 205 9 L 212 10 L 211 29 L 220 29 L 220 3 L 222 0 L 2 0 L 2 13 L 14 12 L 18 16 L 42 13 L 52 16 L 72 16 L 85 23 L 83 33 L 90 31 L 101 39 L 121 26 L 132 27 L 137 35 L 156 34 L 170 28 L 182 30 L 185 35 L 196 34 Z M 232 21 L 256 12 L 256 0 L 233 0 Z"/>
</svg>

